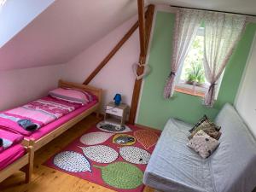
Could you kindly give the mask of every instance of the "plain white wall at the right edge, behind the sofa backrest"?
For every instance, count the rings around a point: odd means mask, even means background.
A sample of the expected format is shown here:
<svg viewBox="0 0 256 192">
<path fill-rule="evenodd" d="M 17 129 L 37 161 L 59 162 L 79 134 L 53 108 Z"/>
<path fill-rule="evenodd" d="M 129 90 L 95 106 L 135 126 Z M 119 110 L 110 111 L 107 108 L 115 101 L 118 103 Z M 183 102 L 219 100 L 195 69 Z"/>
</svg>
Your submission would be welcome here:
<svg viewBox="0 0 256 192">
<path fill-rule="evenodd" d="M 236 109 L 256 137 L 256 36 L 237 96 Z"/>
</svg>

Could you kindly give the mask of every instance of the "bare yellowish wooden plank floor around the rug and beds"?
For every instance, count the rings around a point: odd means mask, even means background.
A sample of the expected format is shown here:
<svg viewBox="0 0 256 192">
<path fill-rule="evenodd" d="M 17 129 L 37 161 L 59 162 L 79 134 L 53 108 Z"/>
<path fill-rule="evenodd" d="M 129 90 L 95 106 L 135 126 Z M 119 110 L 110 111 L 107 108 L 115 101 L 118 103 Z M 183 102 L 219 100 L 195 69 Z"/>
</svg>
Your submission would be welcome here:
<svg viewBox="0 0 256 192">
<path fill-rule="evenodd" d="M 24 183 L 24 173 L 17 172 L 12 177 L 0 183 L 1 192 L 113 192 L 95 183 L 87 182 L 79 177 L 73 177 L 42 164 L 61 148 L 71 143 L 91 126 L 96 125 L 99 119 L 90 115 L 86 119 L 73 126 L 72 129 L 39 149 L 35 154 L 34 172 L 32 182 Z M 143 192 L 153 192 L 153 189 L 145 188 Z"/>
</svg>

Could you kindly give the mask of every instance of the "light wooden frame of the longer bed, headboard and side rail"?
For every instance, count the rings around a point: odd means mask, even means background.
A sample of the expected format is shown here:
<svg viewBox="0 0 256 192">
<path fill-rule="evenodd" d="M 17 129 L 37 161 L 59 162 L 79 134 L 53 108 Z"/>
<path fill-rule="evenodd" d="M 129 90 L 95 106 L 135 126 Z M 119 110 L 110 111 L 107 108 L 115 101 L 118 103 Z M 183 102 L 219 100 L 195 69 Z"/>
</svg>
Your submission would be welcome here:
<svg viewBox="0 0 256 192">
<path fill-rule="evenodd" d="M 45 135 L 44 137 L 41 137 L 40 139 L 38 139 L 36 141 L 32 140 L 32 139 L 31 140 L 24 139 L 23 144 L 25 146 L 32 146 L 34 151 L 37 151 L 39 148 L 42 148 L 45 144 L 47 144 L 50 141 L 52 141 L 53 139 L 55 139 L 55 137 L 60 136 L 63 132 L 70 129 L 73 125 L 77 124 L 80 120 L 82 120 L 85 117 L 87 117 L 88 115 L 90 115 L 90 113 L 96 112 L 97 117 L 100 114 L 99 108 L 100 108 L 101 102 L 102 102 L 102 89 L 97 89 L 95 87 L 92 87 L 89 85 L 84 85 L 84 84 L 70 83 L 70 82 L 66 82 L 66 81 L 62 81 L 62 80 L 59 81 L 59 87 L 61 87 L 61 88 L 76 88 L 79 90 L 89 91 L 90 93 L 97 96 L 98 102 L 93 107 L 87 109 L 83 113 L 80 113 L 78 116 L 74 117 L 73 119 L 70 119 L 65 124 L 59 126 L 54 131 L 49 132 L 49 134 Z"/>
</svg>

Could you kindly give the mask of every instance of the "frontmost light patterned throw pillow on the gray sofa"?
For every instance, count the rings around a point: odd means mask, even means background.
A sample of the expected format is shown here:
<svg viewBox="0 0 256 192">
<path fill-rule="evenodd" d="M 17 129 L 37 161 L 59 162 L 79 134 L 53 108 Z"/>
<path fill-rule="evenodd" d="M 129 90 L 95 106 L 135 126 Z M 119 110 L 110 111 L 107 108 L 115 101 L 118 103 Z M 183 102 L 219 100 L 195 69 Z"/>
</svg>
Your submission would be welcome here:
<svg viewBox="0 0 256 192">
<path fill-rule="evenodd" d="M 197 131 L 195 136 L 189 140 L 187 145 L 201 155 L 202 158 L 206 159 L 209 157 L 214 150 L 218 147 L 218 140 L 210 137 L 204 131 Z"/>
</svg>

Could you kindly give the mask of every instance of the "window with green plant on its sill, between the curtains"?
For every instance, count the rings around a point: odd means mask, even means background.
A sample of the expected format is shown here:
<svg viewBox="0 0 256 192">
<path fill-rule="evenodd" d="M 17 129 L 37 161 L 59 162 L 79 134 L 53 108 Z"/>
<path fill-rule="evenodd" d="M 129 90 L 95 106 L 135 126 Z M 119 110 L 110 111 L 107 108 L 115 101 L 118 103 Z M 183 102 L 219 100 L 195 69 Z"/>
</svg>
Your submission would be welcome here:
<svg viewBox="0 0 256 192">
<path fill-rule="evenodd" d="M 204 27 L 200 27 L 195 40 L 191 44 L 183 66 L 177 72 L 177 85 L 175 90 L 193 96 L 205 95 L 210 83 L 207 82 L 204 71 Z M 220 78 L 220 81 L 221 82 Z M 217 87 L 218 96 L 219 84 Z"/>
</svg>

